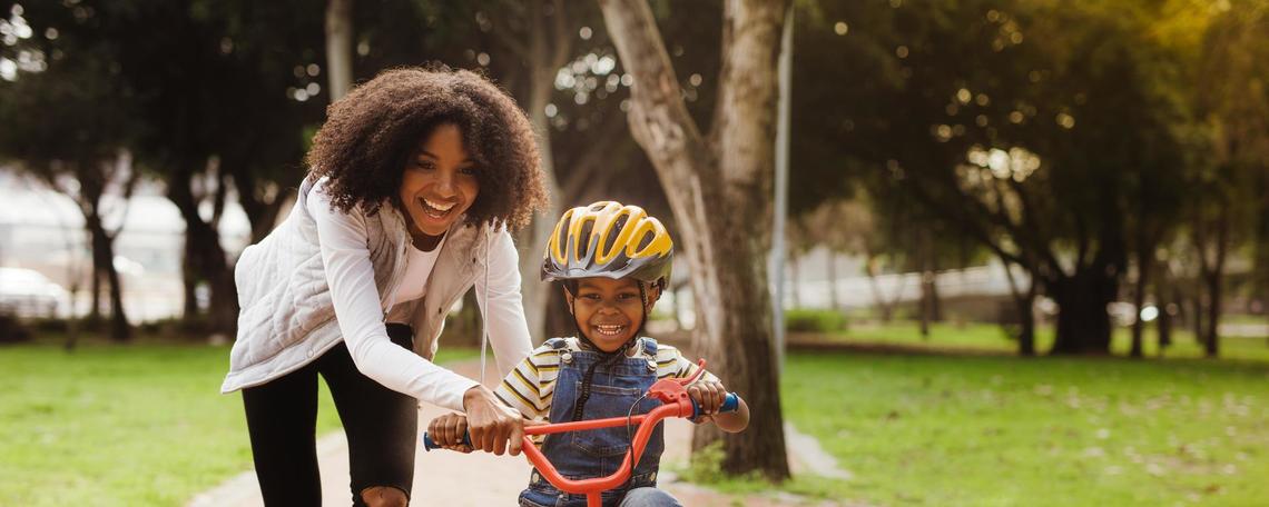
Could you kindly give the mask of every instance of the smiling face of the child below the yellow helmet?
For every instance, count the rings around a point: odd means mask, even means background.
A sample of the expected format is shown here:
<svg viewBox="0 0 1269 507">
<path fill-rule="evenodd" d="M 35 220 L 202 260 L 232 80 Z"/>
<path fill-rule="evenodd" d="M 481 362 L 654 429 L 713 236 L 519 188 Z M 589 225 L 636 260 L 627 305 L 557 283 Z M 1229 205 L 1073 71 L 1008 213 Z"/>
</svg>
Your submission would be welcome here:
<svg viewBox="0 0 1269 507">
<path fill-rule="evenodd" d="M 577 328 L 600 350 L 613 352 L 634 337 L 643 314 L 651 311 L 661 290 L 647 288 L 647 307 L 634 279 L 593 276 L 577 280 L 577 294 L 565 290 Z"/>
</svg>

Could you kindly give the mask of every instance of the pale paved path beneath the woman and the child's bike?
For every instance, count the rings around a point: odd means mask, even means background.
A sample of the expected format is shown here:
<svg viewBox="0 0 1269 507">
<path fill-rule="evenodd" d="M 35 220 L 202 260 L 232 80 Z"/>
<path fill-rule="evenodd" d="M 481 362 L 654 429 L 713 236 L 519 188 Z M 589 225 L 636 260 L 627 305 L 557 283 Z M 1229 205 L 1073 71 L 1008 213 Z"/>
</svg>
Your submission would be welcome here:
<svg viewBox="0 0 1269 507">
<path fill-rule="evenodd" d="M 464 361 L 452 365 L 453 370 L 477 378 L 478 361 Z M 434 417 L 445 413 L 444 409 L 424 403 L 419 412 L 419 423 L 425 428 Z M 666 451 L 661 459 L 662 469 L 669 464 L 687 463 L 692 423 L 684 420 L 665 421 Z M 792 430 L 792 428 L 788 428 Z M 849 478 L 849 474 L 836 470 L 830 456 L 819 450 L 813 439 L 787 431 L 789 436 L 791 461 L 794 473 L 812 472 L 820 475 Z M 348 506 L 348 446 L 343 432 L 326 435 L 317 441 L 317 458 L 322 475 L 324 506 Z M 415 458 L 414 493 L 415 499 L 426 498 L 428 504 L 442 506 L 510 506 L 520 489 L 528 483 L 528 460 L 523 456 L 495 456 L 487 452 L 447 452 L 424 451 L 420 446 Z M 660 485 L 679 498 L 685 506 L 796 506 L 807 504 L 801 498 L 791 496 L 763 496 L 732 498 L 707 488 L 675 480 L 673 474 L 664 474 Z M 421 502 L 414 502 L 421 503 Z M 220 487 L 201 493 L 189 502 L 189 507 L 259 507 L 260 489 L 254 472 L 245 472 L 225 482 Z"/>
</svg>

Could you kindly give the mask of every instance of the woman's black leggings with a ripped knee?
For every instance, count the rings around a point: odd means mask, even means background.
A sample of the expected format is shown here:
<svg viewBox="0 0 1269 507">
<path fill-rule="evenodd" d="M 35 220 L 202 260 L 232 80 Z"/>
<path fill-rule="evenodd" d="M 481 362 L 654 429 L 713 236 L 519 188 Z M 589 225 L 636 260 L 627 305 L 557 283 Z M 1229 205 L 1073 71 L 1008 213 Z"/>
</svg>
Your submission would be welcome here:
<svg viewBox="0 0 1269 507">
<path fill-rule="evenodd" d="M 388 324 L 393 343 L 410 349 L 410 326 Z M 348 437 L 353 504 L 362 489 L 398 488 L 410 496 L 418 442 L 418 402 L 357 370 L 340 342 L 305 368 L 242 390 L 255 475 L 265 506 L 321 506 L 317 473 L 317 374 L 326 379 Z"/>
</svg>

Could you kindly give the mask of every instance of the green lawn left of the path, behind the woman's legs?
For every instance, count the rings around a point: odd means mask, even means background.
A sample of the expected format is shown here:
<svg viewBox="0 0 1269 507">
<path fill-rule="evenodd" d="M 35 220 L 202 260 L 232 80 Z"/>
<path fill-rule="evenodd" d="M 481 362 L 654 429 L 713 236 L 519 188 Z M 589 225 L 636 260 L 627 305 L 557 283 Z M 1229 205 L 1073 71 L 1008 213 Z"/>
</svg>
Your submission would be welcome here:
<svg viewBox="0 0 1269 507">
<path fill-rule="evenodd" d="M 180 506 L 250 469 L 241 397 L 220 394 L 227 368 L 228 347 L 0 347 L 0 504 Z M 319 385 L 325 433 L 340 423 Z"/>
</svg>

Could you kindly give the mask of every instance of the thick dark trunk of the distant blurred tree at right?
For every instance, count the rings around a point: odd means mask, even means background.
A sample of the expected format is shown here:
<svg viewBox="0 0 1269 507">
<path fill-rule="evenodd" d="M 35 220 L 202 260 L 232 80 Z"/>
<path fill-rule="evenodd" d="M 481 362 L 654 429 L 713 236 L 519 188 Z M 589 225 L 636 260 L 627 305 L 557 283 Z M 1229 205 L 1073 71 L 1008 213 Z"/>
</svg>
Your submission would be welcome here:
<svg viewBox="0 0 1269 507">
<path fill-rule="evenodd" d="M 1057 337 L 1052 354 L 1110 354 L 1110 316 L 1107 304 L 1118 284 L 1107 267 L 1094 264 L 1074 276 L 1049 280 L 1057 302 Z"/>
</svg>

